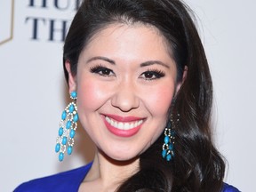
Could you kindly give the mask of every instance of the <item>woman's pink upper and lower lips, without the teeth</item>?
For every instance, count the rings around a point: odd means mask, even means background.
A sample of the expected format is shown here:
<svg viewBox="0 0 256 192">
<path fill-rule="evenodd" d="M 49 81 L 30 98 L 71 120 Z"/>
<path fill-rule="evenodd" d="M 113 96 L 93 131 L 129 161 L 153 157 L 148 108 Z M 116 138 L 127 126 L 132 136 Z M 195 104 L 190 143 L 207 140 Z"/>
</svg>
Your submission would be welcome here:
<svg viewBox="0 0 256 192">
<path fill-rule="evenodd" d="M 108 131 L 119 137 L 132 137 L 132 135 L 140 131 L 140 127 L 144 122 L 144 118 L 136 117 L 136 116 L 116 116 L 116 115 L 106 114 L 106 115 L 103 115 L 102 117 L 103 117 L 104 124 L 108 128 Z M 121 124 L 134 123 L 134 124 L 132 125 L 132 128 L 124 130 L 124 129 L 117 128 L 113 124 L 109 124 L 109 120 L 107 121 L 106 117 L 110 118 L 112 121 L 115 121 L 116 123 L 118 122 L 119 124 L 120 123 Z M 135 122 L 137 122 L 137 124 L 135 124 Z"/>
</svg>

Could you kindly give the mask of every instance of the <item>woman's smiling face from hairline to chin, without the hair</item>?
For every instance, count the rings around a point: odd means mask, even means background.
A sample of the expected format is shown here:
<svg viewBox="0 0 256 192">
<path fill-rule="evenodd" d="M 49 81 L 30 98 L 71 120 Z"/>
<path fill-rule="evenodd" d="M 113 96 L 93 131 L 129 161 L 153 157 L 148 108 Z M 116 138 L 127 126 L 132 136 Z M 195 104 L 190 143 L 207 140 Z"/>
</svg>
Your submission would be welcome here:
<svg viewBox="0 0 256 192">
<path fill-rule="evenodd" d="M 86 45 L 69 89 L 77 91 L 80 122 L 97 148 L 130 160 L 164 131 L 175 79 L 175 62 L 156 28 L 116 24 Z"/>
</svg>

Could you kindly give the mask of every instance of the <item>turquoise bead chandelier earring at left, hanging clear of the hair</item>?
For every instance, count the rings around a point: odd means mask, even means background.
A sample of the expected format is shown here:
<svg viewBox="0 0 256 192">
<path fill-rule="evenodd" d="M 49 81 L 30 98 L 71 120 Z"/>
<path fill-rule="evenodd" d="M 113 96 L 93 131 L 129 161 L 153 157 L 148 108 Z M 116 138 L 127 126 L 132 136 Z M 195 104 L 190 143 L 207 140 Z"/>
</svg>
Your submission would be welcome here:
<svg viewBox="0 0 256 192">
<path fill-rule="evenodd" d="M 67 150 L 68 155 L 72 154 L 74 137 L 76 135 L 78 114 L 76 107 L 77 93 L 70 93 L 71 102 L 62 112 L 60 120 L 59 136 L 57 138 L 57 144 L 55 146 L 55 152 L 59 153 L 59 161 L 63 161 L 64 153 Z M 68 149 L 67 149 L 68 148 Z"/>
</svg>

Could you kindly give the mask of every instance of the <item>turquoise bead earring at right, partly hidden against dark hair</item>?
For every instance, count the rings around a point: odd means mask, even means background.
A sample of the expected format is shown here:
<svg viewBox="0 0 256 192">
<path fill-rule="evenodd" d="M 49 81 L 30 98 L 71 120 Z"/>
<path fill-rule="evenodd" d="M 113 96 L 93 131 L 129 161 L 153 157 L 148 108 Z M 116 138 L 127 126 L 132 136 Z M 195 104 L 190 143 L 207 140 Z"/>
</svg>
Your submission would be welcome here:
<svg viewBox="0 0 256 192">
<path fill-rule="evenodd" d="M 177 122 L 180 121 L 179 119 L 180 114 L 178 114 Z M 174 140 L 175 140 L 175 124 L 173 122 L 173 116 L 171 115 L 170 121 L 168 121 L 166 128 L 164 129 L 164 144 L 163 144 L 163 151 L 162 156 L 167 161 L 171 161 L 174 157 Z"/>
</svg>

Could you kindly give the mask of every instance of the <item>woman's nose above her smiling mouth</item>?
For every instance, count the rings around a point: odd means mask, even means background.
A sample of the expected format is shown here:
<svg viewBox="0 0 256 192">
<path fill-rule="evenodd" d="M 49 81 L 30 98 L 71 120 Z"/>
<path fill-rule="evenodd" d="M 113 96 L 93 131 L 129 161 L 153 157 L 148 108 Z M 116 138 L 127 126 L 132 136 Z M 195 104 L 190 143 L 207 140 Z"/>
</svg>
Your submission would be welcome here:
<svg viewBox="0 0 256 192">
<path fill-rule="evenodd" d="M 115 95 L 112 97 L 111 104 L 123 112 L 129 112 L 134 108 L 139 108 L 140 99 L 136 93 L 136 89 L 131 82 L 126 81 L 122 84 L 118 84 Z"/>
</svg>

